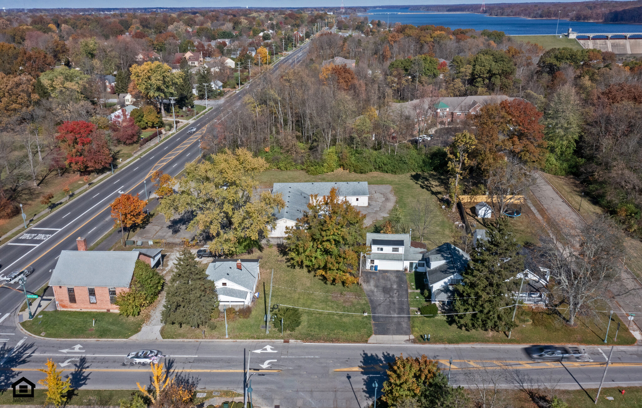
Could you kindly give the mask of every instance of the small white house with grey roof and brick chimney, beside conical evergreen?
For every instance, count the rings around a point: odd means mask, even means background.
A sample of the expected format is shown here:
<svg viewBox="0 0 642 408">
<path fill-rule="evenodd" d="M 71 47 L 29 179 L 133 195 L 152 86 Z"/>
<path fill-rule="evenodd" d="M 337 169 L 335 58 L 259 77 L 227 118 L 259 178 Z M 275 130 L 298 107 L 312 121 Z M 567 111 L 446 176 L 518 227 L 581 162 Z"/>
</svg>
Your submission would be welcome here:
<svg viewBox="0 0 642 408">
<path fill-rule="evenodd" d="M 261 277 L 258 259 L 214 259 L 205 273 L 216 285 L 221 308 L 250 305 Z"/>
</svg>

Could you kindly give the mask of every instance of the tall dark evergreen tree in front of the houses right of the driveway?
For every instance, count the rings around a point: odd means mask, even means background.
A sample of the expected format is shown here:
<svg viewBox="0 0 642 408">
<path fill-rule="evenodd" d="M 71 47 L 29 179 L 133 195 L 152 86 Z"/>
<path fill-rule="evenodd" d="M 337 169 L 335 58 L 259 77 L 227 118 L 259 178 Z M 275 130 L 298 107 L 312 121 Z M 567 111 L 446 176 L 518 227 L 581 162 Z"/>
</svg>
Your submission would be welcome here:
<svg viewBox="0 0 642 408">
<path fill-rule="evenodd" d="M 512 226 L 507 217 L 490 223 L 488 241 L 478 245 L 463 273 L 463 282 L 455 286 L 455 323 L 466 330 L 507 330 L 511 321 L 514 299 L 510 293 L 517 273 L 523 271 L 524 260 L 517 251 Z M 505 307 L 505 309 L 501 309 Z M 476 312 L 476 313 L 471 313 Z"/>
</svg>

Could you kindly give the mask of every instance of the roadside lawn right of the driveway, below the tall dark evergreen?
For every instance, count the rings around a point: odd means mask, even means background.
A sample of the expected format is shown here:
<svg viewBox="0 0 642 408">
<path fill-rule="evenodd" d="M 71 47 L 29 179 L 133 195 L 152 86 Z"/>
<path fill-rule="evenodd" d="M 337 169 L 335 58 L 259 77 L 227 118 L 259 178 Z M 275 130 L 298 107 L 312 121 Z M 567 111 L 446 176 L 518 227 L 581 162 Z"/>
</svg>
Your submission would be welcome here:
<svg viewBox="0 0 642 408">
<path fill-rule="evenodd" d="M 553 313 L 531 311 L 521 307 L 517 309 L 516 318 L 519 326 L 513 329 L 510 339 L 504 333 L 460 330 L 455 325 L 449 325 L 445 316 L 413 317 L 410 320 L 410 327 L 412 334 L 417 338 L 421 334 L 430 334 L 432 343 L 603 344 L 609 320 L 608 314 L 600 314 L 599 319 L 580 316 L 577 320 L 577 327 L 571 328 L 564 325 Z M 626 330 L 624 323 L 621 324 L 617 343 L 613 343 L 612 339 L 618 322 L 621 320 L 614 314 L 611 330 L 609 330 L 609 345 L 635 344 L 636 339 Z"/>
</svg>

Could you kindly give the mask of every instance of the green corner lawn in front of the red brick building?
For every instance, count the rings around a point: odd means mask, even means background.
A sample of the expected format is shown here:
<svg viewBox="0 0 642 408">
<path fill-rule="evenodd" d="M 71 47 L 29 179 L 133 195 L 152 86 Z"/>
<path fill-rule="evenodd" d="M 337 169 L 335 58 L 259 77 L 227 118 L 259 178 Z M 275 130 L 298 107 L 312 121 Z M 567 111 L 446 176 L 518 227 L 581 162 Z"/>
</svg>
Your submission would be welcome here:
<svg viewBox="0 0 642 408">
<path fill-rule="evenodd" d="M 42 318 L 39 318 L 42 316 Z M 96 325 L 92 327 L 92 319 Z M 55 310 L 40 312 L 33 320 L 24 321 L 22 327 L 42 337 L 58 339 L 126 339 L 141 330 L 143 318 L 125 317 L 108 312 L 74 312 Z M 92 330 L 93 329 L 93 330 Z M 42 334 L 44 332 L 44 334 Z"/>
</svg>

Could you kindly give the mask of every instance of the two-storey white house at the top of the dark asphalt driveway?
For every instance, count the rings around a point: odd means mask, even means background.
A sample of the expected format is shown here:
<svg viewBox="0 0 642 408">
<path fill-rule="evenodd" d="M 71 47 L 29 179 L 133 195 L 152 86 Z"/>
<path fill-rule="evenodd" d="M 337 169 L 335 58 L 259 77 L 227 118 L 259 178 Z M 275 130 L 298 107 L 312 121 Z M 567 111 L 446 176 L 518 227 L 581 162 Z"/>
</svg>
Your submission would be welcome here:
<svg viewBox="0 0 642 408">
<path fill-rule="evenodd" d="M 366 268 L 371 271 L 425 271 L 426 262 L 422 259 L 426 244 L 410 240 L 410 234 L 367 233 L 366 245 L 370 254 L 366 255 Z"/>
</svg>

